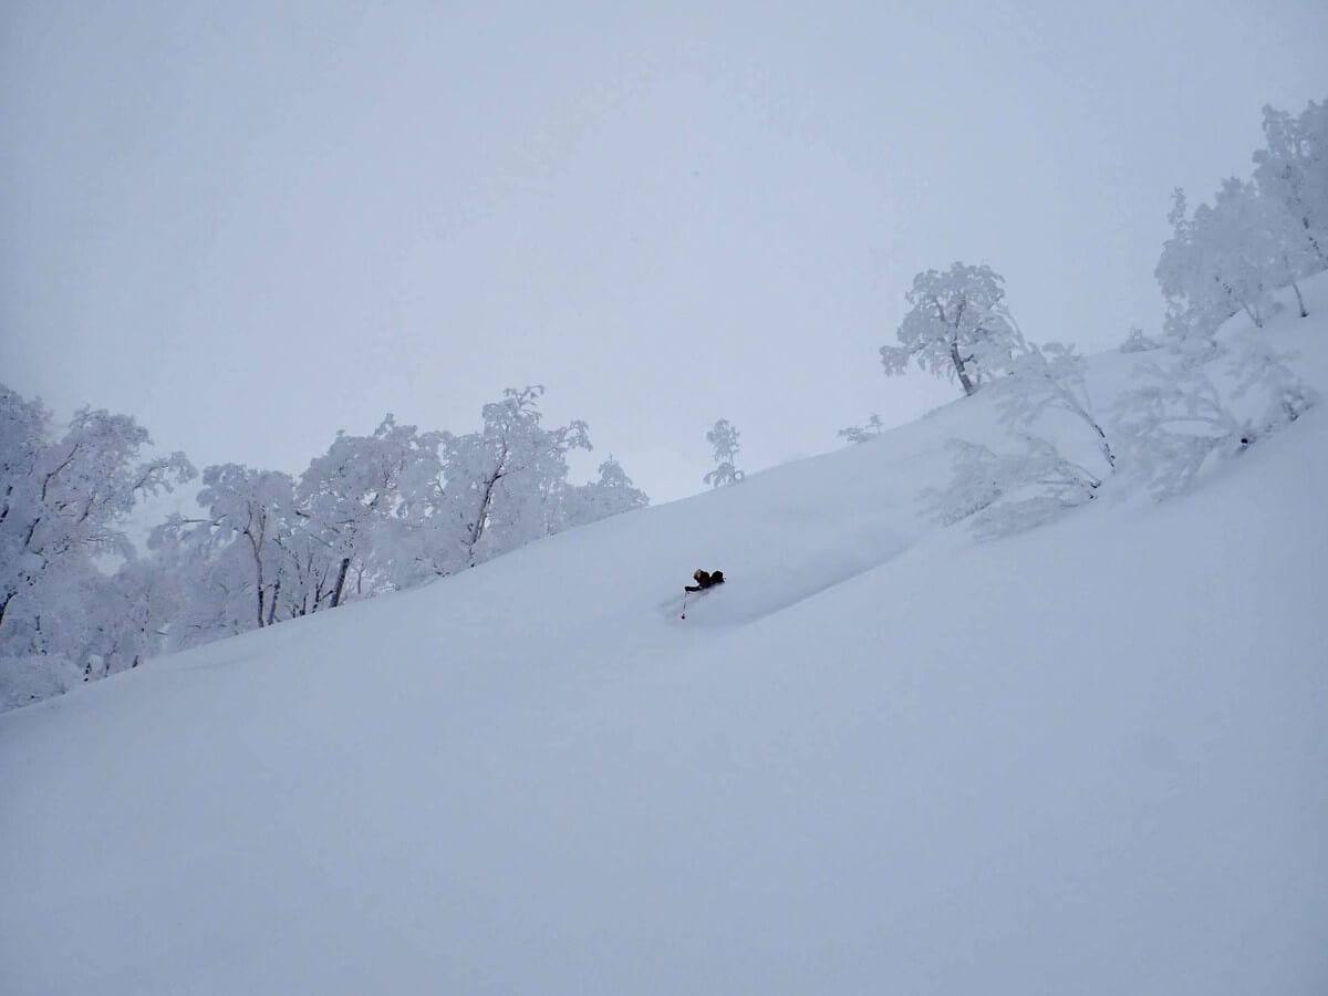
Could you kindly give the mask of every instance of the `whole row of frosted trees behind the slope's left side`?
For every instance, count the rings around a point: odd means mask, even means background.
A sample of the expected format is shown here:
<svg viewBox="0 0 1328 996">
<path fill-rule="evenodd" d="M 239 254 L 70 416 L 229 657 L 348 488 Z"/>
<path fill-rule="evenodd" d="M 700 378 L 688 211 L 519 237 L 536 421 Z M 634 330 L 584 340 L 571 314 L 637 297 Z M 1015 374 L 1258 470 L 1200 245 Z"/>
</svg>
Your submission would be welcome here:
<svg viewBox="0 0 1328 996">
<path fill-rule="evenodd" d="M 507 389 L 465 434 L 389 414 L 368 436 L 337 433 L 296 478 L 145 458 L 147 432 L 105 410 L 57 434 L 40 401 L 0 385 L 0 708 L 648 505 L 612 457 L 598 479 L 568 479 L 588 429 L 546 426 L 543 392 Z M 198 513 L 135 548 L 138 503 L 195 478 Z"/>
</svg>

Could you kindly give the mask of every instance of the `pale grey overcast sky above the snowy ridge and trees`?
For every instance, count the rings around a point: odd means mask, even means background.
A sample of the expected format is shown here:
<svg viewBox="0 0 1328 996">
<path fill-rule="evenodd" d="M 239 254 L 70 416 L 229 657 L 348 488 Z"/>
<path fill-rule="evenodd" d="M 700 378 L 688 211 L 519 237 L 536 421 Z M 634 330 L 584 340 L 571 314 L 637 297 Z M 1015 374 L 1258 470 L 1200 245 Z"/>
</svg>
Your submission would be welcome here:
<svg viewBox="0 0 1328 996">
<path fill-rule="evenodd" d="M 919 270 L 1155 329 L 1171 189 L 1325 53 L 1321 0 L 5 0 L 0 381 L 293 473 L 540 382 L 677 498 L 716 418 L 756 470 L 957 396 L 880 369 Z"/>
</svg>

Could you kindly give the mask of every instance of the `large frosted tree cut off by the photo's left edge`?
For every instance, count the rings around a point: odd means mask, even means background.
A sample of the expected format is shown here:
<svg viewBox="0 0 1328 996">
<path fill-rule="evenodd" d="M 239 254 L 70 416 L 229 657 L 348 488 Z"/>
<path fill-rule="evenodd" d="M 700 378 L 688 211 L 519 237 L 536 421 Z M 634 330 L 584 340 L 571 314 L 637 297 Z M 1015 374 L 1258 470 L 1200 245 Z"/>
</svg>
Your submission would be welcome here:
<svg viewBox="0 0 1328 996">
<path fill-rule="evenodd" d="M 16 705 L 81 680 L 93 656 L 118 669 L 147 649 L 116 619 L 133 560 L 135 502 L 194 475 L 183 454 L 142 459 L 147 432 L 81 409 L 58 438 L 50 414 L 0 386 L 0 699 Z M 117 635 L 117 627 L 120 633 Z"/>
</svg>

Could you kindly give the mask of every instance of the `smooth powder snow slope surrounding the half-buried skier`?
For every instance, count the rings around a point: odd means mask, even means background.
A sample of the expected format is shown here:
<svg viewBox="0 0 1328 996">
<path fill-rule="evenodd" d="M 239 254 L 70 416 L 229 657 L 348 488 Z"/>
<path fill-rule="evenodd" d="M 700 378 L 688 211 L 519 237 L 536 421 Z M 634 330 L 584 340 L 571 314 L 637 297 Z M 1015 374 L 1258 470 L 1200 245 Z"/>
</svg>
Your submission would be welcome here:
<svg viewBox="0 0 1328 996">
<path fill-rule="evenodd" d="M 0 992 L 1328 991 L 1328 412 L 975 544 L 916 493 L 993 426 L 0 717 Z"/>
</svg>

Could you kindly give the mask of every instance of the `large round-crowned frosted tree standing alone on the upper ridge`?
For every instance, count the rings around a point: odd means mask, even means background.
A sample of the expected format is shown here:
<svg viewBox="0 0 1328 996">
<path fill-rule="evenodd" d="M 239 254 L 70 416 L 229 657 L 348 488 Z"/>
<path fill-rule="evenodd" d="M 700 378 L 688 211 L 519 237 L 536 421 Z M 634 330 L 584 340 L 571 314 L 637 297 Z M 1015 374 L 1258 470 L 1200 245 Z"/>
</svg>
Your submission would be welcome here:
<svg viewBox="0 0 1328 996">
<path fill-rule="evenodd" d="M 964 394 L 1007 371 L 1021 341 L 1005 307 L 1005 280 L 987 266 L 954 263 L 948 271 L 928 270 L 914 278 L 904 299 L 908 313 L 899 325 L 899 345 L 880 347 L 886 376 L 903 373 L 910 363 L 950 380 Z"/>
</svg>

